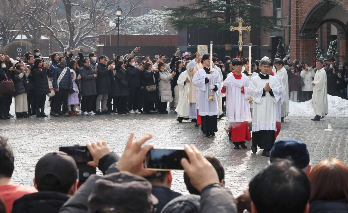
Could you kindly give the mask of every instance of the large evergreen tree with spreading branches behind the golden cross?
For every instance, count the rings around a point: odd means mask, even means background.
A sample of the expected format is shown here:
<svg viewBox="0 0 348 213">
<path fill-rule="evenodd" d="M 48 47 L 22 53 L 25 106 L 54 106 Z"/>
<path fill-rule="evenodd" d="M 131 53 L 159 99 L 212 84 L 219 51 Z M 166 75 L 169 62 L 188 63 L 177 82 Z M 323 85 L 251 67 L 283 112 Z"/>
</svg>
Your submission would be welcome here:
<svg viewBox="0 0 348 213">
<path fill-rule="evenodd" d="M 169 11 L 168 23 L 176 30 L 208 27 L 213 32 L 230 34 L 229 28 L 237 27 L 241 17 L 243 26 L 249 25 L 252 30 L 281 31 L 287 26 L 277 26 L 276 23 L 287 17 L 260 16 L 262 8 L 274 1 L 279 0 L 255 0 L 252 4 L 248 0 L 197 0 L 180 7 L 165 7 L 164 10 Z M 230 36 L 226 37 L 225 42 L 230 43 Z"/>
</svg>

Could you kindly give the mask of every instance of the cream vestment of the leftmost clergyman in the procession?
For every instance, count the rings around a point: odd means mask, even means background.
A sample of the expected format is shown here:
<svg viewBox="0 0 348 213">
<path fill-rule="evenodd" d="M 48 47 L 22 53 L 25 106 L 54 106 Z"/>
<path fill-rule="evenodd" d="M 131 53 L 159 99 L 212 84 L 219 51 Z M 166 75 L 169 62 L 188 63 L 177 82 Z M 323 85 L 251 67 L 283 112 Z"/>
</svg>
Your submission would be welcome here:
<svg viewBox="0 0 348 213">
<path fill-rule="evenodd" d="M 175 112 L 177 112 L 178 117 L 183 118 L 188 118 L 190 112 L 190 104 L 187 101 L 187 90 L 189 89 L 190 82 L 185 82 L 186 78 L 190 79 L 187 70 L 180 73 L 180 76 L 177 79 L 177 86 L 179 87 L 179 102 Z"/>
</svg>

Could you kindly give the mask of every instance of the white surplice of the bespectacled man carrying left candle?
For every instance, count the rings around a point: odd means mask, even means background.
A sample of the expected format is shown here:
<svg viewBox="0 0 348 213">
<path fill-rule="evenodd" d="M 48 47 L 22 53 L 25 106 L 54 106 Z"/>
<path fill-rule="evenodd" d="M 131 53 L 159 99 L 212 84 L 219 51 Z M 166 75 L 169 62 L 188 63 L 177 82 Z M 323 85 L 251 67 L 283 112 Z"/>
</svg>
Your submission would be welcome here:
<svg viewBox="0 0 348 213">
<path fill-rule="evenodd" d="M 208 68 L 210 70 L 210 68 Z M 213 85 L 216 85 L 217 91 L 213 91 L 214 101 L 209 100 L 209 95 L 211 90 L 209 86 L 211 85 L 211 80 L 208 83 L 205 83 L 206 78 L 210 76 L 210 73 L 206 73 L 204 69 L 200 69 L 193 76 L 192 83 L 198 89 L 198 97 L 196 103 L 198 106 L 198 113 L 201 116 L 205 115 L 218 115 L 219 106 L 217 104 L 217 96 L 221 90 L 221 78 L 217 70 L 213 69 Z"/>
</svg>

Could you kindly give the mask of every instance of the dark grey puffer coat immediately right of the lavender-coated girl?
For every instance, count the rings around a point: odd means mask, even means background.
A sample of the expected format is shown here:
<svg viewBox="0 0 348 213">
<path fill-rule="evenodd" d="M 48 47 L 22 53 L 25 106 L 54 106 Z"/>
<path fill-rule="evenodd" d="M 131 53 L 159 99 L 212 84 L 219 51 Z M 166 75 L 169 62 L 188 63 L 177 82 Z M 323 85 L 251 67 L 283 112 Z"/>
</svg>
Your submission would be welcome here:
<svg viewBox="0 0 348 213">
<path fill-rule="evenodd" d="M 81 74 L 81 94 L 82 96 L 92 96 L 97 95 L 97 83 L 95 82 L 95 78 L 93 74 L 95 74 L 94 70 L 88 66 L 83 65 L 80 68 Z"/>
</svg>

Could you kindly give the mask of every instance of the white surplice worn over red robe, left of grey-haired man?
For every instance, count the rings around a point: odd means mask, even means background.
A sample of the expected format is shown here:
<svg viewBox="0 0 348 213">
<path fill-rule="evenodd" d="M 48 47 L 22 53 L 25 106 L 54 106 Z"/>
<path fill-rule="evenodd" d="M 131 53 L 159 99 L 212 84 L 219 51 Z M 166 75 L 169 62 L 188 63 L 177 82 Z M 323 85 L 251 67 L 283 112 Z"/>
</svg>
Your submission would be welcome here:
<svg viewBox="0 0 348 213">
<path fill-rule="evenodd" d="M 236 79 L 235 76 L 232 74 L 231 76 L 227 77 L 225 81 L 228 82 L 228 85 L 226 86 L 226 92 L 221 92 L 221 96 L 226 97 L 227 121 L 229 123 L 250 123 L 250 94 L 248 91 L 250 81 L 248 77 L 242 75 L 241 79 Z M 240 85 L 244 86 L 244 94 L 241 92 L 240 87 L 236 87 L 235 85 L 233 85 L 233 82 L 237 82 Z"/>
</svg>

